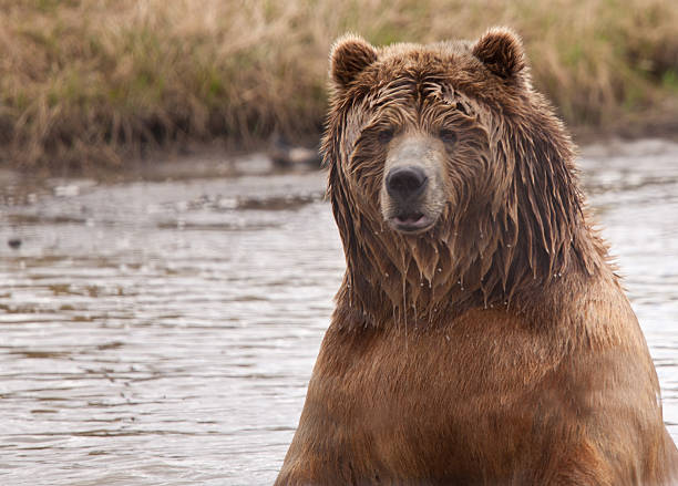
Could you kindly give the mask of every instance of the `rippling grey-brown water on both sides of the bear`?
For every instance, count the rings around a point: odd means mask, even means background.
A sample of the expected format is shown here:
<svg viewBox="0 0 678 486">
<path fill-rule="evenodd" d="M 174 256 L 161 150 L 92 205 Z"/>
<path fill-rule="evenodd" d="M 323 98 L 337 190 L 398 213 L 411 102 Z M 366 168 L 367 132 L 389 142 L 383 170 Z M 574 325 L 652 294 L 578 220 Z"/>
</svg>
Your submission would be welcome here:
<svg viewBox="0 0 678 486">
<path fill-rule="evenodd" d="M 0 174 L 0 484 L 273 482 L 343 256 L 322 174 L 240 165 Z M 582 168 L 678 438 L 678 145 Z"/>
</svg>

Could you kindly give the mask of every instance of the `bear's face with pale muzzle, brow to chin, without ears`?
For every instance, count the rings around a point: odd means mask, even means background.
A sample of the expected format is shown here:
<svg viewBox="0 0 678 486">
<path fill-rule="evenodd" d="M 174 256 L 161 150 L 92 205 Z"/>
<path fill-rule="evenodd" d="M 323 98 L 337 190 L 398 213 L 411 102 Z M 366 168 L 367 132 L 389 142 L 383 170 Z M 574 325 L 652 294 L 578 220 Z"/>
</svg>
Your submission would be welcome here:
<svg viewBox="0 0 678 486">
<path fill-rule="evenodd" d="M 368 189 L 362 194 L 379 201 L 383 221 L 403 235 L 444 224 L 445 209 L 465 210 L 493 177 L 487 132 L 471 104 L 452 104 L 433 92 L 419 106 L 419 95 L 403 93 L 377 111 L 376 133 L 361 134 L 347 164 L 348 176 Z M 376 165 L 378 194 L 362 177 L 369 164 Z"/>
</svg>

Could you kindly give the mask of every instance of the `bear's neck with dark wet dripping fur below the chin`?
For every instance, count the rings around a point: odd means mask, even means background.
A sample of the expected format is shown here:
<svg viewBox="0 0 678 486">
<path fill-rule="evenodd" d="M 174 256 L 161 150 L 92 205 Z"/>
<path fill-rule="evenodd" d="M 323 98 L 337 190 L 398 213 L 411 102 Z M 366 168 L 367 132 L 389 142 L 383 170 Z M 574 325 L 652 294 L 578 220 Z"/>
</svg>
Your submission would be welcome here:
<svg viewBox="0 0 678 486">
<path fill-rule="evenodd" d="M 606 247 L 583 215 L 554 246 L 540 231 L 506 242 L 501 217 L 480 229 L 477 219 L 466 220 L 474 223 L 403 237 L 363 219 L 359 234 L 342 235 L 347 271 L 336 320 L 425 328 L 474 308 L 530 313 L 554 287 L 586 285 L 609 269 Z"/>
</svg>

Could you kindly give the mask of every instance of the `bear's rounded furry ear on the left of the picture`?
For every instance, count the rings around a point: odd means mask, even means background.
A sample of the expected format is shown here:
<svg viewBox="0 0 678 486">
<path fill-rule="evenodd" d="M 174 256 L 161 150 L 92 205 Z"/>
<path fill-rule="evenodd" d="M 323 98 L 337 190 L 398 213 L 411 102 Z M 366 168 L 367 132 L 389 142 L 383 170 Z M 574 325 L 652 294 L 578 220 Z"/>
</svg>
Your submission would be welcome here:
<svg viewBox="0 0 678 486">
<path fill-rule="evenodd" d="M 343 90 L 374 61 L 377 51 L 366 40 L 358 35 L 345 35 L 332 46 L 330 76 L 336 86 Z"/>
</svg>

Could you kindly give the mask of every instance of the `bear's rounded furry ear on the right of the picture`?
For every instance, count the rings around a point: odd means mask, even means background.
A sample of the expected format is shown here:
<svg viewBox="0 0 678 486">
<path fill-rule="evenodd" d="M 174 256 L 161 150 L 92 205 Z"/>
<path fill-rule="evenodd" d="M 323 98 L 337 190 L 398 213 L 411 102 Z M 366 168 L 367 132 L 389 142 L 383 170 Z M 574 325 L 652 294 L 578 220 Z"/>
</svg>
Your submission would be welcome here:
<svg viewBox="0 0 678 486">
<path fill-rule="evenodd" d="M 492 73 L 503 79 L 514 77 L 525 69 L 523 42 L 515 32 L 504 27 L 485 32 L 472 52 Z"/>
</svg>

